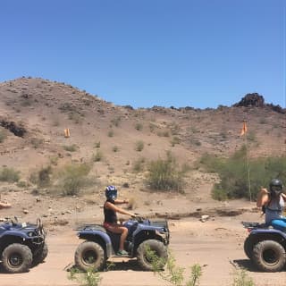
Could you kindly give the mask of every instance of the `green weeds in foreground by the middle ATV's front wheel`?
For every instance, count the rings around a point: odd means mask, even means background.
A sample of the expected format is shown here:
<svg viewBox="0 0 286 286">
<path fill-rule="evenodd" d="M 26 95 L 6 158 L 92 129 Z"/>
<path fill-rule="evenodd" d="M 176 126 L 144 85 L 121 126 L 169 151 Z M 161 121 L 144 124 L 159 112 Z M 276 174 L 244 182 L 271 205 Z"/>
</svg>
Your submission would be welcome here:
<svg viewBox="0 0 286 286">
<path fill-rule="evenodd" d="M 156 252 L 147 248 L 147 259 L 151 261 L 152 270 L 155 274 L 159 275 L 165 282 L 171 283 L 176 286 L 198 286 L 199 279 L 202 276 L 202 266 L 194 264 L 190 267 L 189 279 L 185 279 L 185 268 L 178 266 L 176 259 L 169 252 L 167 260 L 157 257 Z M 162 271 L 162 265 L 165 266 L 165 270 Z"/>
</svg>

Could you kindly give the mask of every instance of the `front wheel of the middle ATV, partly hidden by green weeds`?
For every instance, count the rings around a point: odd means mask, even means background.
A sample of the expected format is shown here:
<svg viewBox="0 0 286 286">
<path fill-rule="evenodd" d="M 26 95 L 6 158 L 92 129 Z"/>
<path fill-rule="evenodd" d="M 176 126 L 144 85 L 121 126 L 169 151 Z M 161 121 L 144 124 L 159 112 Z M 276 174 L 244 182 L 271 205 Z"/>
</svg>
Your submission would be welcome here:
<svg viewBox="0 0 286 286">
<path fill-rule="evenodd" d="M 137 261 L 145 271 L 152 271 L 153 254 L 159 259 L 159 267 L 163 270 L 168 258 L 167 248 L 159 240 L 145 240 L 137 248 Z M 155 257 L 155 258 L 156 258 Z"/>
</svg>

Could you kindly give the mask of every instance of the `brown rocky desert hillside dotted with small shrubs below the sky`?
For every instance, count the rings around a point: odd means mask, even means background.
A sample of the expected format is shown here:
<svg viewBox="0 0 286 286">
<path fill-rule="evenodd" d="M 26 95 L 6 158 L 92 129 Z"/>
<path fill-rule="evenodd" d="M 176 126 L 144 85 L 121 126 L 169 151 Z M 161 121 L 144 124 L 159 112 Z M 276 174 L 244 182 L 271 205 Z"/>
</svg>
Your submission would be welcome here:
<svg viewBox="0 0 286 286">
<path fill-rule="evenodd" d="M 0 83 L 1 165 L 28 177 L 48 165 L 92 161 L 102 181 L 132 177 L 139 183 L 135 164 L 166 151 L 181 164 L 193 164 L 206 152 L 230 156 L 244 143 L 243 121 L 250 156 L 285 155 L 285 117 L 284 109 L 257 94 L 217 109 L 133 109 L 64 83 L 21 78 Z"/>
</svg>

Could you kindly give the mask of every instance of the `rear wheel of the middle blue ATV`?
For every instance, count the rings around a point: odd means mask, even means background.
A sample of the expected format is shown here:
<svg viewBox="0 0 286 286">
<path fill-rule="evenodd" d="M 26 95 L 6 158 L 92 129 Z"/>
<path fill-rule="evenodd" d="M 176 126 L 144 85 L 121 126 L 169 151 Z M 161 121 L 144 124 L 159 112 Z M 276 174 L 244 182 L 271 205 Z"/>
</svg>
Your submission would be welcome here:
<svg viewBox="0 0 286 286">
<path fill-rule="evenodd" d="M 74 254 L 75 265 L 83 271 L 102 270 L 106 263 L 105 250 L 96 242 L 82 242 Z"/>
</svg>

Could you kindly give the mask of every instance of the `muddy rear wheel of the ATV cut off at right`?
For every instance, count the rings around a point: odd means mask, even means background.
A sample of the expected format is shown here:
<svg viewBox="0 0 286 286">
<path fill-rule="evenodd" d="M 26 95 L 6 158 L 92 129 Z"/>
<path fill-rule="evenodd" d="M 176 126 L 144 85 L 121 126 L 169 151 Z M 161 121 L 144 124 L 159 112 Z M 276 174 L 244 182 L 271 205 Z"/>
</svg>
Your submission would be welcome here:
<svg viewBox="0 0 286 286">
<path fill-rule="evenodd" d="M 274 240 L 260 241 L 253 248 L 252 261 L 261 271 L 281 271 L 286 264 L 285 249 Z"/>
</svg>

